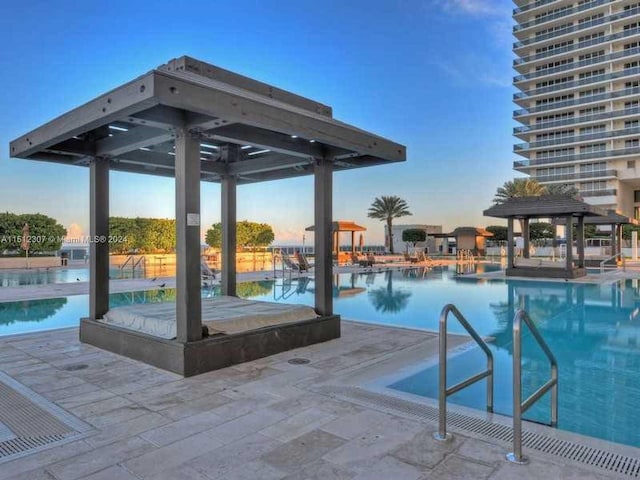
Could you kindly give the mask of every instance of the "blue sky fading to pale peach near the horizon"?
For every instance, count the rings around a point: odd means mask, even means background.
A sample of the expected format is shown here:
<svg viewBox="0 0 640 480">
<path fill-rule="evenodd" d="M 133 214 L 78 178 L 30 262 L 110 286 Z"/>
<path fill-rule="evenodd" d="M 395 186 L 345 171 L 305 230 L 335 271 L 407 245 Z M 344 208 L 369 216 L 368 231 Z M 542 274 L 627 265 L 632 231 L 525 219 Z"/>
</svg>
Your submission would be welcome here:
<svg viewBox="0 0 640 480">
<path fill-rule="evenodd" d="M 407 162 L 339 172 L 334 219 L 368 228 L 375 197 L 396 223 L 499 224 L 482 216 L 512 170 L 508 0 L 39 1 L 0 5 L 0 211 L 40 212 L 88 234 L 88 169 L 10 159 L 9 142 L 172 58 L 190 55 L 333 107 L 334 117 L 407 146 Z M 172 179 L 112 172 L 110 214 L 174 218 Z M 313 179 L 240 186 L 238 219 L 301 243 Z M 202 185 L 203 233 L 220 188 Z M 345 235 L 345 241 L 346 241 Z M 310 241 L 307 235 L 307 242 Z"/>
</svg>

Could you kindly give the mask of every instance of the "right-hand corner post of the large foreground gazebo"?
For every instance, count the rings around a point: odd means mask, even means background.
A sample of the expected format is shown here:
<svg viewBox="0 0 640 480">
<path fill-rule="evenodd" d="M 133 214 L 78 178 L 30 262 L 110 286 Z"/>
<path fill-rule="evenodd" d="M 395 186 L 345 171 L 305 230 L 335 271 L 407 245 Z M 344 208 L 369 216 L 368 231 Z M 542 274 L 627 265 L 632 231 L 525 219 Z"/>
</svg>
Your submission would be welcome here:
<svg viewBox="0 0 640 480">
<path fill-rule="evenodd" d="M 333 165 L 327 158 L 316 160 L 314 167 L 315 231 L 315 307 L 319 315 L 333 314 L 333 259 L 331 255 L 333 220 Z"/>
</svg>

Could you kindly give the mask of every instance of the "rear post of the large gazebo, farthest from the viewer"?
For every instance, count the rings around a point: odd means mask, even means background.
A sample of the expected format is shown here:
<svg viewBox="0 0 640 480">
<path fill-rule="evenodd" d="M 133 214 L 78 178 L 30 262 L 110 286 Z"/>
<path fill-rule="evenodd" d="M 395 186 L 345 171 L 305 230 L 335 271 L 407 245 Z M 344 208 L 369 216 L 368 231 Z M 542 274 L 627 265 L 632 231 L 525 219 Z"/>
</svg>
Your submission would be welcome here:
<svg viewBox="0 0 640 480">
<path fill-rule="evenodd" d="M 222 178 L 222 295 L 236 296 L 236 187 L 233 176 Z"/>
</svg>

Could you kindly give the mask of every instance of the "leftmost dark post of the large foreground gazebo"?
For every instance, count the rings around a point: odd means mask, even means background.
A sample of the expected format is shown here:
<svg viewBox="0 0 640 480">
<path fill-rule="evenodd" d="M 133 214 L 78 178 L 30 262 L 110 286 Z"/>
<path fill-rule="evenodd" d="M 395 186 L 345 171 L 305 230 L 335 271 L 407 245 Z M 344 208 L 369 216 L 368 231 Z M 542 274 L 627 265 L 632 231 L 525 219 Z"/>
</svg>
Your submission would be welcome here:
<svg viewBox="0 0 640 480">
<path fill-rule="evenodd" d="M 89 166 L 89 318 L 109 311 L 109 160 Z"/>
</svg>

